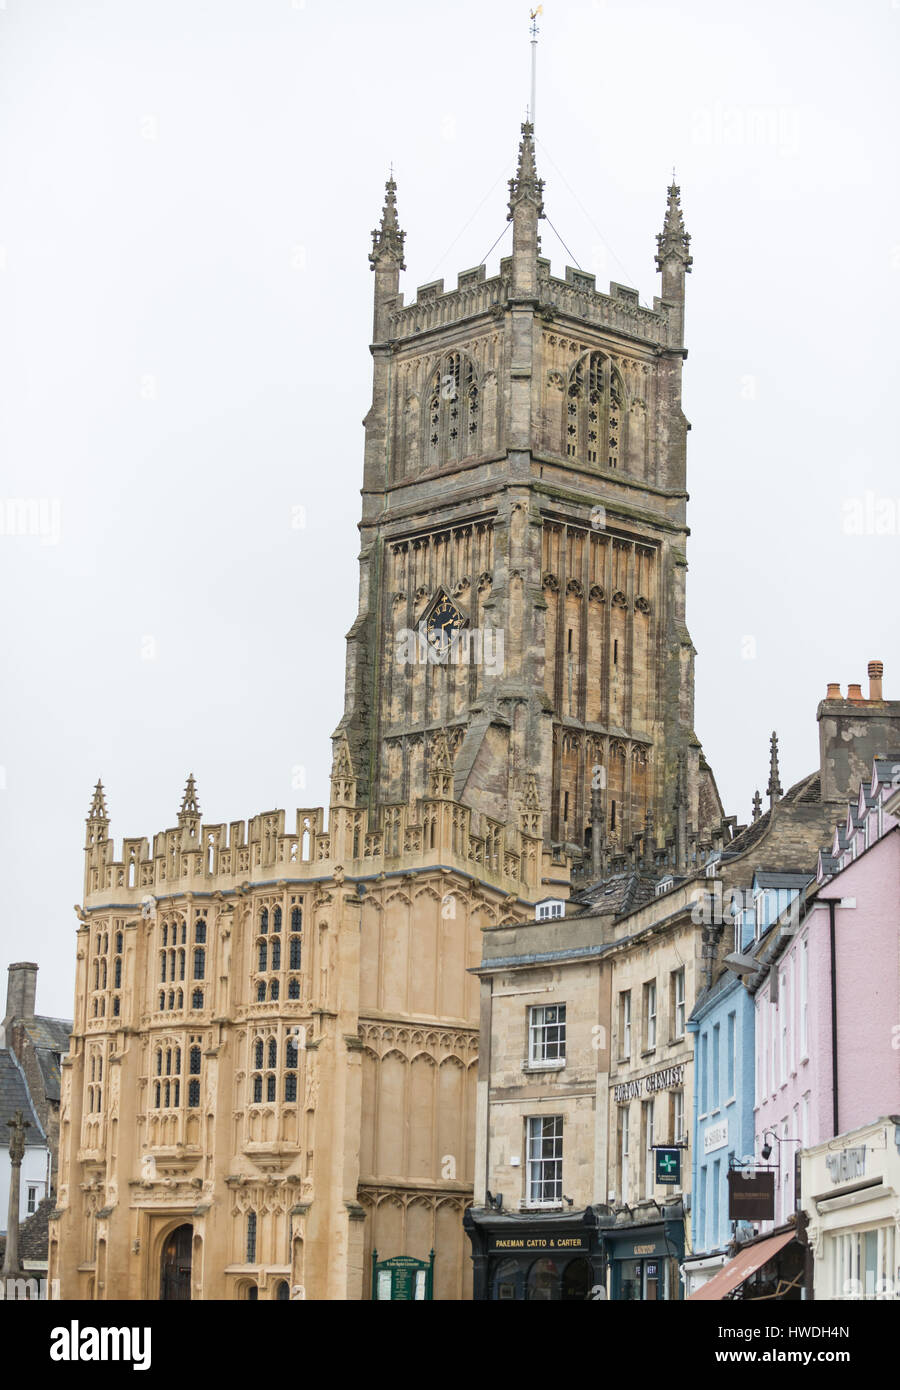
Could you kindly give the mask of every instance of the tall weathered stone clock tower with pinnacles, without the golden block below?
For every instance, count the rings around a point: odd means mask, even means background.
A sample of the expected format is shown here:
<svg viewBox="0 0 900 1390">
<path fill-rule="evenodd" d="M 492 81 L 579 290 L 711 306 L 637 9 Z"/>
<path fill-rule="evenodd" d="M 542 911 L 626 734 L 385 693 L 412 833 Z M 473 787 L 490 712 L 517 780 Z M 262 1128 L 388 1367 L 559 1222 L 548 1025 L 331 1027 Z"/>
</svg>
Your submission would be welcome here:
<svg viewBox="0 0 900 1390">
<path fill-rule="evenodd" d="M 684 616 L 690 236 L 673 183 L 647 309 L 584 271 L 554 277 L 543 215 L 524 124 L 499 274 L 476 265 L 405 304 L 387 183 L 360 606 L 335 737 L 373 821 L 428 794 L 441 735 L 453 796 L 476 816 L 515 823 L 536 776 L 547 848 L 576 877 L 616 856 L 682 867 L 722 819 Z"/>
</svg>

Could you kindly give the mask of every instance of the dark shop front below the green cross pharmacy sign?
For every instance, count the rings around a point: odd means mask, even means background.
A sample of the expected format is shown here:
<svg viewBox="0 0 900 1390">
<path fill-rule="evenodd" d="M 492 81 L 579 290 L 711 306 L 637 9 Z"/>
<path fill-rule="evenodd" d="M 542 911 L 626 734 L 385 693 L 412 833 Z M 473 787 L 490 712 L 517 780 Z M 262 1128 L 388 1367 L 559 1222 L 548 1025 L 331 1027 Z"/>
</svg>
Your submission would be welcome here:
<svg viewBox="0 0 900 1390">
<path fill-rule="evenodd" d="M 609 1297 L 619 1302 L 661 1302 L 682 1297 L 684 1258 L 682 1202 L 655 1208 L 658 1219 L 618 1220 L 604 1232 Z"/>
</svg>

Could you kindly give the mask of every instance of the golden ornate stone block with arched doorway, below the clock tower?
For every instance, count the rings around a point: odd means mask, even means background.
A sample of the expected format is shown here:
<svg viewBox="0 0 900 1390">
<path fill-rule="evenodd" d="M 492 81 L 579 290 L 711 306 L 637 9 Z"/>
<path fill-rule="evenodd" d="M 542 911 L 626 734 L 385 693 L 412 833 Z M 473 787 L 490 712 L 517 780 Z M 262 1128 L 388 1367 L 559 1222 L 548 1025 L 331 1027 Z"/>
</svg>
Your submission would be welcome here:
<svg viewBox="0 0 900 1390">
<path fill-rule="evenodd" d="M 360 1298 L 370 1255 L 435 1251 L 470 1290 L 477 983 L 487 927 L 552 877 L 540 815 L 502 840 L 448 792 L 367 828 L 346 744 L 321 810 L 178 824 L 115 856 L 88 817 L 51 1277 L 64 1298 Z M 178 1247 L 181 1248 L 181 1247 Z M 177 1280 L 175 1280 L 177 1286 Z"/>
</svg>

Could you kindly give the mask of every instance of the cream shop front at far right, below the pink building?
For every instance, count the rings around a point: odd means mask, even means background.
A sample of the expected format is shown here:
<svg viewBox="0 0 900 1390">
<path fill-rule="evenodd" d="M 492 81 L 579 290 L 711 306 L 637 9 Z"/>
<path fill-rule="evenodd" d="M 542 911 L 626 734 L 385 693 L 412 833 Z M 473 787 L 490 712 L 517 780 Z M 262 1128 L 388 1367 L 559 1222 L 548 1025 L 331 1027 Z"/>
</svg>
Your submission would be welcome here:
<svg viewBox="0 0 900 1390">
<path fill-rule="evenodd" d="M 800 1155 L 812 1297 L 900 1298 L 900 1116 Z"/>
</svg>

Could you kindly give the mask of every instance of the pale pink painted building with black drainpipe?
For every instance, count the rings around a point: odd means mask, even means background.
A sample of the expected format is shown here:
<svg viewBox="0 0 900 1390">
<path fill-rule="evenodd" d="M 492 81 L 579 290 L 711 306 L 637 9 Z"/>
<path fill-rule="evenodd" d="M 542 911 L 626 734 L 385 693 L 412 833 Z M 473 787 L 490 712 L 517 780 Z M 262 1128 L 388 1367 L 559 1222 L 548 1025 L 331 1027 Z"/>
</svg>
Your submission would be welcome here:
<svg viewBox="0 0 900 1390">
<path fill-rule="evenodd" d="M 772 927 L 757 905 L 755 1152 L 778 1165 L 776 1225 L 800 1148 L 900 1113 L 899 788 L 900 755 L 875 759 L 805 902 Z"/>
</svg>

